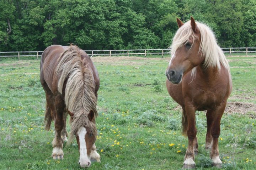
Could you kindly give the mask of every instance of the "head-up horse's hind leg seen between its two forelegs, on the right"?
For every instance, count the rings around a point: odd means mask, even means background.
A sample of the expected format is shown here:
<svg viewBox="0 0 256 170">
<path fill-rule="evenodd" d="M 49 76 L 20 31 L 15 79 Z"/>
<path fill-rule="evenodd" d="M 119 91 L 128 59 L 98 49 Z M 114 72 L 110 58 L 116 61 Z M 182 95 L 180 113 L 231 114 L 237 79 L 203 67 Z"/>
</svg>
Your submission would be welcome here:
<svg viewBox="0 0 256 170">
<path fill-rule="evenodd" d="M 208 110 L 206 113 L 206 119 L 207 119 L 207 133 L 206 133 L 206 149 L 212 148 L 213 138 L 211 134 L 211 128 L 212 128 L 212 122 L 214 119 L 213 112 L 211 110 Z"/>
</svg>

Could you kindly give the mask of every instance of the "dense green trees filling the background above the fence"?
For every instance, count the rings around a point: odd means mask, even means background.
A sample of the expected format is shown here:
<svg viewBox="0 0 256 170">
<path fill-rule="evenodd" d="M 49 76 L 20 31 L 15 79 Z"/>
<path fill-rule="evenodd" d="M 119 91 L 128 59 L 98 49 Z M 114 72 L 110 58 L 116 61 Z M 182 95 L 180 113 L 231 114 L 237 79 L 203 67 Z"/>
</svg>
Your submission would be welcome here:
<svg viewBox="0 0 256 170">
<path fill-rule="evenodd" d="M 256 0 L 1 0 L 0 51 L 167 48 L 193 16 L 221 47 L 256 46 Z"/>
</svg>

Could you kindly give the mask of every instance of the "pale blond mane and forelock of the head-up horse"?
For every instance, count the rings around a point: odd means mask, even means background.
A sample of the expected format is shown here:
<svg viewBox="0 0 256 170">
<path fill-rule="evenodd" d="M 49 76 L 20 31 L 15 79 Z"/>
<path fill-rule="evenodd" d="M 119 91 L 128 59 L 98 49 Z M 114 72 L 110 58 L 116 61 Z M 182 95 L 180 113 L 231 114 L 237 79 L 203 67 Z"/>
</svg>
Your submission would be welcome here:
<svg viewBox="0 0 256 170">
<path fill-rule="evenodd" d="M 222 64 L 222 66 L 228 70 L 230 75 L 228 61 L 226 60 L 222 49 L 220 49 L 219 45 L 217 44 L 217 40 L 213 31 L 206 24 L 196 22 L 196 25 L 201 34 L 201 42 L 198 53 L 201 52 L 202 57 L 204 57 L 203 67 L 206 69 L 211 67 L 217 67 L 218 70 L 220 70 L 220 64 Z M 173 57 L 176 50 L 186 44 L 190 38 L 192 38 L 194 42 L 197 36 L 191 28 L 190 21 L 188 21 L 177 30 L 172 40 L 172 45 L 170 46 L 171 56 Z M 192 77 L 194 77 L 195 72 L 196 67 L 192 69 Z"/>
</svg>

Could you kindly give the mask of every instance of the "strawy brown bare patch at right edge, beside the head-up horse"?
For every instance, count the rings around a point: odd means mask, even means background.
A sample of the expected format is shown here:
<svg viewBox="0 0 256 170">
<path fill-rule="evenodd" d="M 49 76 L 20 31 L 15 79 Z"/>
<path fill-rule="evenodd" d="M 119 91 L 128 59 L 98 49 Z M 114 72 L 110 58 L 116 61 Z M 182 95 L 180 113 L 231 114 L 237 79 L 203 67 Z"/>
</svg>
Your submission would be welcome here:
<svg viewBox="0 0 256 170">
<path fill-rule="evenodd" d="M 252 112 L 249 116 L 252 118 L 256 117 L 256 106 L 252 103 L 241 103 L 241 102 L 228 102 L 226 105 L 225 113 L 241 113 L 246 114 Z"/>
</svg>

